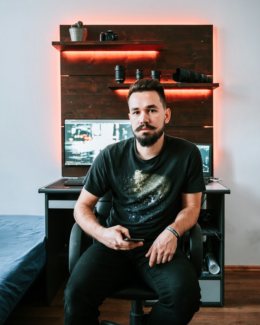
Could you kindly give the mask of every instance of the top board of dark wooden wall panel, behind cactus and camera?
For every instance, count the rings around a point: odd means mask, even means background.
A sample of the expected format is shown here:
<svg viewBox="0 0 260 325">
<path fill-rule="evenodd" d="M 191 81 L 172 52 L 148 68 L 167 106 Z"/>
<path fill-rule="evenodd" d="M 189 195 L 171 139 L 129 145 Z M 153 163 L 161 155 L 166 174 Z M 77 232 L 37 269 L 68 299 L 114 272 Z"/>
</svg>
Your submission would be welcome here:
<svg viewBox="0 0 260 325">
<path fill-rule="evenodd" d="M 126 75 L 135 75 L 143 69 L 145 75 L 160 70 L 172 75 L 177 67 L 184 67 L 208 75 L 213 74 L 213 26 L 212 25 L 92 25 L 87 41 L 99 41 L 100 32 L 112 29 L 120 41 L 163 41 L 163 51 L 156 58 L 133 57 L 118 53 L 96 56 L 95 53 L 61 52 L 61 75 L 114 75 L 116 65 L 126 67 Z M 70 41 L 69 25 L 60 26 L 60 41 Z M 88 62 L 88 64 L 86 64 Z"/>
</svg>

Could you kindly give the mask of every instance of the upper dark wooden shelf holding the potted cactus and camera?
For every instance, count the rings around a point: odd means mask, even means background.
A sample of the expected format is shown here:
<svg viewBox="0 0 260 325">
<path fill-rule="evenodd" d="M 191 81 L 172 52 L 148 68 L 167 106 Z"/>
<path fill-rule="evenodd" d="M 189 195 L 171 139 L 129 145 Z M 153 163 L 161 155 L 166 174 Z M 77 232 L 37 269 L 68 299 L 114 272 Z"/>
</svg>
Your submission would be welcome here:
<svg viewBox="0 0 260 325">
<path fill-rule="evenodd" d="M 52 42 L 58 51 L 162 51 L 162 41 Z"/>
</svg>

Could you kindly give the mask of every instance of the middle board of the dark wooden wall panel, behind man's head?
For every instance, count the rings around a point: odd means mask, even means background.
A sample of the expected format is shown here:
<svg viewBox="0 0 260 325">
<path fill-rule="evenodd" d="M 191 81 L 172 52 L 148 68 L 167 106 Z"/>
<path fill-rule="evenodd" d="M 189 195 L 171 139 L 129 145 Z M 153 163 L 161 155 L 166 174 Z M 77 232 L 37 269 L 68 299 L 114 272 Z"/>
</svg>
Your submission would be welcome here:
<svg viewBox="0 0 260 325">
<path fill-rule="evenodd" d="M 127 119 L 127 92 L 119 95 L 110 90 L 107 87 L 110 82 L 108 76 L 62 76 L 61 123 L 66 118 Z M 184 93 L 166 90 L 165 93 L 172 113 L 169 125 L 213 126 L 213 90 L 202 95 L 193 90 Z"/>
</svg>

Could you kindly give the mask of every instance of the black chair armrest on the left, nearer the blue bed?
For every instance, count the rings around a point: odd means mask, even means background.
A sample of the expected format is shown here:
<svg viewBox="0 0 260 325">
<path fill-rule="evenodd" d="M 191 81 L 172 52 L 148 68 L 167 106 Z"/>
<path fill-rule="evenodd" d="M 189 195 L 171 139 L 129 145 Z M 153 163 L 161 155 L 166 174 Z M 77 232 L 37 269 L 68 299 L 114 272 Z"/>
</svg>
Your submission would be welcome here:
<svg viewBox="0 0 260 325">
<path fill-rule="evenodd" d="M 76 265 L 78 259 L 81 255 L 81 238 L 83 230 L 75 222 L 70 237 L 69 245 L 69 271 L 72 273 L 74 266 Z"/>
</svg>

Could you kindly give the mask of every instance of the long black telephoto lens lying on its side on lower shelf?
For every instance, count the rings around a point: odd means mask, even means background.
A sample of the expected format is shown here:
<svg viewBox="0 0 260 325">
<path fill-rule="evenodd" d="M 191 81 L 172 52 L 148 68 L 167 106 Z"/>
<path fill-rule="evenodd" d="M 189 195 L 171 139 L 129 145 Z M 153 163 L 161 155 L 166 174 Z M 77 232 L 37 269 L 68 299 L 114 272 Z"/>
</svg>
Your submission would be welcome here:
<svg viewBox="0 0 260 325">
<path fill-rule="evenodd" d="M 187 83 L 212 83 L 212 77 L 208 77 L 206 74 L 191 71 L 185 68 L 177 68 L 176 73 L 172 75 L 172 78 L 176 82 Z"/>
</svg>

